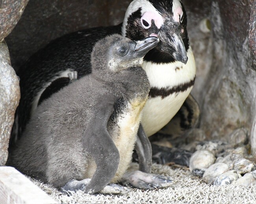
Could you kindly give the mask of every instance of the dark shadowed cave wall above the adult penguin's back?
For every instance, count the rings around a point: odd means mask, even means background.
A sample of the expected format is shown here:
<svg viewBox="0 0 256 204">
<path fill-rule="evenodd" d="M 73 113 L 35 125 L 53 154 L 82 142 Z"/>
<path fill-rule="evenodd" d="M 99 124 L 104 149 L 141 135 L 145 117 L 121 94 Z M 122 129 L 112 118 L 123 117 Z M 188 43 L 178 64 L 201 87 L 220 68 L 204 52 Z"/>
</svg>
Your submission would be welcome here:
<svg viewBox="0 0 256 204">
<path fill-rule="evenodd" d="M 122 22 L 131 0 L 33 0 L 7 37 L 11 64 L 18 69 L 50 40 L 67 33 Z M 20 47 L 22 54 L 20 55 Z"/>
</svg>

